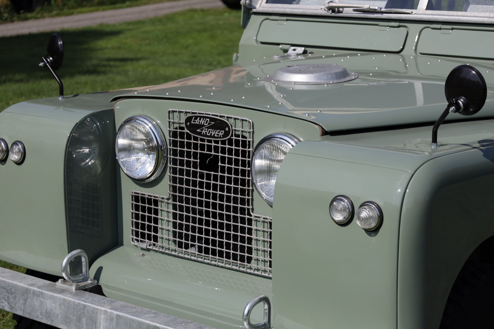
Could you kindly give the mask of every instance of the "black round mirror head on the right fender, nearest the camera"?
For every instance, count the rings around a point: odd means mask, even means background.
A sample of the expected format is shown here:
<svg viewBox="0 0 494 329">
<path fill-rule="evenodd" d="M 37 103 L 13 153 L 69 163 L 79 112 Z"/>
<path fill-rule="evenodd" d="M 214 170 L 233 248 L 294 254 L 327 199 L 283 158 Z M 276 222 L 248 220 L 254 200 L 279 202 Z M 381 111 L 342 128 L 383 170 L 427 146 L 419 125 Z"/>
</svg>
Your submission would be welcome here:
<svg viewBox="0 0 494 329">
<path fill-rule="evenodd" d="M 464 97 L 468 106 L 457 113 L 472 115 L 482 109 L 487 98 L 486 80 L 476 68 L 470 65 L 460 65 L 451 70 L 446 78 L 444 93 L 448 103 L 453 98 Z"/>
</svg>

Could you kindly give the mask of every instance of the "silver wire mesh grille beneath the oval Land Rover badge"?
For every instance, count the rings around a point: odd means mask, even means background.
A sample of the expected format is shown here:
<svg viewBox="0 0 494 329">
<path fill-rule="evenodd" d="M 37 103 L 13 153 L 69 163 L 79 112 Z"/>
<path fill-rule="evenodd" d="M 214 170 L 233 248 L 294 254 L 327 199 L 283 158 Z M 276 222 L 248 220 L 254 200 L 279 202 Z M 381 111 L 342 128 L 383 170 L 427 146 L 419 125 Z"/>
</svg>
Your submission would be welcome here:
<svg viewBox="0 0 494 329">
<path fill-rule="evenodd" d="M 227 140 L 185 131 L 189 114 L 228 120 Z M 169 195 L 133 191 L 132 242 L 139 247 L 271 276 L 271 218 L 252 211 L 250 119 L 168 111 Z"/>
</svg>

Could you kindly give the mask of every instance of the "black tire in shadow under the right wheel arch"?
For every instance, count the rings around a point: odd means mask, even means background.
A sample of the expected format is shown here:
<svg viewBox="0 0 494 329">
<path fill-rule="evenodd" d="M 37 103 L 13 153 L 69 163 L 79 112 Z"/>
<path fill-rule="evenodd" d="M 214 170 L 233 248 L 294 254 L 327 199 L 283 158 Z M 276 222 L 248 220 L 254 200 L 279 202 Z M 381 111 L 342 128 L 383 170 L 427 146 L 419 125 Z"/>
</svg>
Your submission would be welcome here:
<svg viewBox="0 0 494 329">
<path fill-rule="evenodd" d="M 494 264 L 465 263 L 454 282 L 439 328 L 494 328 Z"/>
</svg>

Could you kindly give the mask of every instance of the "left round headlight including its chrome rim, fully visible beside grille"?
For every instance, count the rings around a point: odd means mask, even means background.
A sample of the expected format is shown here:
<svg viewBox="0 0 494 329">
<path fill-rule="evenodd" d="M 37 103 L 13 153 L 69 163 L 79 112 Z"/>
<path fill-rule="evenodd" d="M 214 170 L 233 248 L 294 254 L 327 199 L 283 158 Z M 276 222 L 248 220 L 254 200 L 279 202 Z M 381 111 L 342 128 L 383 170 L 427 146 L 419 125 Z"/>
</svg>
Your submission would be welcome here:
<svg viewBox="0 0 494 329">
<path fill-rule="evenodd" d="M 165 139 L 151 118 L 132 116 L 126 119 L 117 132 L 115 150 L 120 167 L 131 179 L 146 183 L 163 173 Z"/>
</svg>

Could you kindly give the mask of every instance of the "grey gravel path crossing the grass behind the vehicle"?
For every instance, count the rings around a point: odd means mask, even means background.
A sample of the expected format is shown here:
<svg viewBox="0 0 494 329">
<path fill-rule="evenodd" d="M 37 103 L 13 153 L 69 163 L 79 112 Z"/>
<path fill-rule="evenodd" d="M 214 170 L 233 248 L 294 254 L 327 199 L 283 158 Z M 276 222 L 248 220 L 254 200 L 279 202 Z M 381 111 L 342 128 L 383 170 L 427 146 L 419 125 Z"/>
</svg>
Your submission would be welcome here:
<svg viewBox="0 0 494 329">
<path fill-rule="evenodd" d="M 224 4 L 220 0 L 180 0 L 123 9 L 95 11 L 73 16 L 33 19 L 30 21 L 0 24 L 0 37 L 81 28 L 83 26 L 94 26 L 98 24 L 138 21 L 189 8 L 218 8 L 223 6 Z"/>
</svg>

